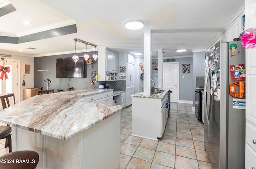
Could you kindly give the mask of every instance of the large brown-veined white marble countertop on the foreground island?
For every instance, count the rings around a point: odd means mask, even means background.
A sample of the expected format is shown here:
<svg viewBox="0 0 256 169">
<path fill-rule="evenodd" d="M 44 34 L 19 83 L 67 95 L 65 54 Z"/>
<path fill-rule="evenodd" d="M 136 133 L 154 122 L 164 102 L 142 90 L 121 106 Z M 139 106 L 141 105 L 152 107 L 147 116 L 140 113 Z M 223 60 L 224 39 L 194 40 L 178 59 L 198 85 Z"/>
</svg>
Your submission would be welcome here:
<svg viewBox="0 0 256 169">
<path fill-rule="evenodd" d="M 68 140 L 124 108 L 82 100 L 82 96 L 110 90 L 113 89 L 74 90 L 36 95 L 0 110 L 0 122 Z"/>
</svg>

